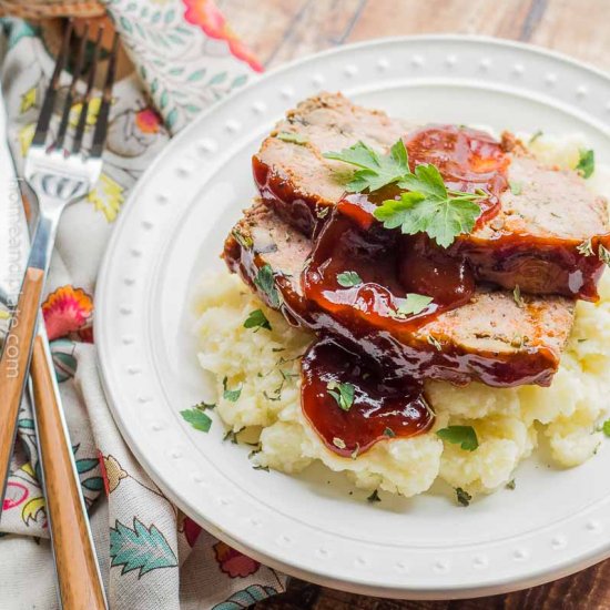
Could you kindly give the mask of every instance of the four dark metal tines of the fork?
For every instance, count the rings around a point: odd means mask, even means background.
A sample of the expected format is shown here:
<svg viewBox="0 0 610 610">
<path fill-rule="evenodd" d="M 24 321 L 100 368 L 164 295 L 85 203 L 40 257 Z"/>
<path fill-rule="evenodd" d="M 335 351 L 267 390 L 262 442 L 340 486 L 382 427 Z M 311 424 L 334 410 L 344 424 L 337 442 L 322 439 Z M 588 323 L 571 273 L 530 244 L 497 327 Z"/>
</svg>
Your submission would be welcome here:
<svg viewBox="0 0 610 610">
<path fill-rule="evenodd" d="M 93 88 L 95 84 L 95 74 L 98 70 L 98 63 L 100 62 L 100 55 L 102 52 L 102 35 L 103 35 L 103 26 L 98 30 L 98 35 L 95 38 L 95 44 L 93 48 L 93 53 L 91 54 L 91 60 L 87 64 L 87 42 L 89 40 L 89 23 L 85 24 L 82 37 L 78 41 L 78 51 L 73 62 L 72 68 L 72 82 L 65 94 L 65 100 L 63 102 L 63 109 L 61 110 L 61 120 L 59 123 L 59 129 L 57 138 L 53 143 L 49 146 L 49 150 L 62 150 L 64 146 L 65 134 L 68 132 L 68 125 L 70 123 L 70 110 L 74 102 L 81 102 L 81 110 L 79 114 L 79 120 L 77 122 L 77 129 L 74 131 L 74 136 L 72 139 L 72 146 L 70 151 L 64 151 L 68 153 L 79 153 L 83 144 L 84 132 L 87 128 L 87 118 L 89 112 L 89 106 L 91 99 L 93 96 Z M 74 34 L 74 27 L 72 20 L 68 21 L 68 27 L 65 28 L 63 40 L 61 43 L 61 49 L 59 51 L 53 74 L 47 89 L 44 95 L 44 101 L 42 102 L 42 109 L 35 128 L 35 133 L 32 140 L 32 145 L 44 148 L 44 142 L 47 140 L 47 134 L 49 132 L 49 125 L 51 123 L 51 118 L 53 115 L 53 110 L 55 106 L 55 98 L 58 90 L 60 88 L 61 73 L 67 65 L 68 57 L 71 49 L 72 38 L 77 38 Z M 114 83 L 114 77 L 116 73 L 116 54 L 119 49 L 119 35 L 115 33 L 112 41 L 112 47 L 108 52 L 108 71 L 105 75 L 105 82 L 102 92 L 102 101 L 100 104 L 100 110 L 95 121 L 95 129 L 93 131 L 91 146 L 88 157 L 99 159 L 102 155 L 104 148 L 105 134 L 108 131 L 108 118 L 110 113 L 110 104 L 112 103 L 112 85 Z M 79 81 L 87 82 L 87 90 L 83 96 L 79 96 L 78 84 Z"/>
</svg>

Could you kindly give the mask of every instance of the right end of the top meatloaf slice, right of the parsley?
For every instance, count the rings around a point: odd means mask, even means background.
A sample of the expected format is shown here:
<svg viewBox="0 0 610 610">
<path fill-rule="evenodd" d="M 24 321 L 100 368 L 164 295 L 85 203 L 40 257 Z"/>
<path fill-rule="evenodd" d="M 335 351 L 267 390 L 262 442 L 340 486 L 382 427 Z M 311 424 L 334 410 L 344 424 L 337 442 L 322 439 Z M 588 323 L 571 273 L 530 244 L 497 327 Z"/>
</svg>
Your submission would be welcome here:
<svg viewBox="0 0 610 610">
<path fill-rule="evenodd" d="M 512 185 L 500 197 L 500 211 L 450 251 L 465 256 L 478 279 L 532 294 L 598 298 L 604 264 L 591 251 L 610 246 L 607 202 L 592 194 L 571 171 L 543 167 L 526 154 L 512 154 Z"/>
</svg>

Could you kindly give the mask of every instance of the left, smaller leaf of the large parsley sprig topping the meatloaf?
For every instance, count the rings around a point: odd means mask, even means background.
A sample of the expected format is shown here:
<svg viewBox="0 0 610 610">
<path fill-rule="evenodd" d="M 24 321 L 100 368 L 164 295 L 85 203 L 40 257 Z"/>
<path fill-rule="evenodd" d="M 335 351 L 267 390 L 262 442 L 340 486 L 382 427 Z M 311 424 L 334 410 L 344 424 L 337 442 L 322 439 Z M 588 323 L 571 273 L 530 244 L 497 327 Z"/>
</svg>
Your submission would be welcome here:
<svg viewBox="0 0 610 610">
<path fill-rule="evenodd" d="M 324 153 L 324 156 L 359 167 L 346 185 L 346 190 L 352 193 L 377 191 L 410 173 L 408 153 L 403 140 L 398 140 L 392 146 L 389 154 L 379 154 L 364 142 L 357 142 L 340 152 Z"/>
</svg>

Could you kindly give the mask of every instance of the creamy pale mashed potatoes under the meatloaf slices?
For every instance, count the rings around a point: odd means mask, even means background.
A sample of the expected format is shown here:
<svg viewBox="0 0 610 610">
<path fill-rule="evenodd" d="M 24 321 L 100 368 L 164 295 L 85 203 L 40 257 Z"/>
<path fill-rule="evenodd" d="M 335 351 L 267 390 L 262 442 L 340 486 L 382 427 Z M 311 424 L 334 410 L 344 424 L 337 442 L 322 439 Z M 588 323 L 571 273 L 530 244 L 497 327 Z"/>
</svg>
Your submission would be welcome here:
<svg viewBox="0 0 610 610">
<path fill-rule="evenodd" d="M 577 138 L 538 138 L 541 160 L 573 166 L 582 143 Z M 588 182 L 602 192 L 610 183 L 600 169 Z M 404 496 L 426 491 L 440 478 L 470 495 L 490 492 L 515 476 L 518 464 L 546 437 L 558 466 L 590 458 L 602 440 L 610 394 L 610 274 L 600 284 L 599 303 L 579 302 L 576 324 L 561 366 L 549 388 L 498 389 L 481 384 L 455 387 L 430 382 L 426 390 L 436 411 L 434 428 L 411 439 L 387 439 L 356 459 L 329 451 L 301 411 L 299 357 L 313 340 L 266 307 L 228 272 L 206 275 L 200 286 L 196 334 L 201 366 L 217 379 L 216 411 L 234 431 L 260 429 L 260 466 L 299 472 L 315 460 L 344 471 L 359 488 Z M 263 309 L 272 329 L 244 328 L 254 309 Z M 241 387 L 236 401 L 223 389 Z M 479 447 L 465 451 L 435 433 L 448 425 L 476 429 Z"/>
</svg>

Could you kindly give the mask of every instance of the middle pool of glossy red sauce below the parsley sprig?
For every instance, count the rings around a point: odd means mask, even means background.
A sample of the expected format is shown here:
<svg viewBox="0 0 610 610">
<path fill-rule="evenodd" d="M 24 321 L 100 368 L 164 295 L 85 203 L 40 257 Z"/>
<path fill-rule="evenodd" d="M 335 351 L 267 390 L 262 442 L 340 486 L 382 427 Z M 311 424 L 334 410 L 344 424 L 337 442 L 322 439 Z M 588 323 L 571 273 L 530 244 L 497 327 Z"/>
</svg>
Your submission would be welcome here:
<svg viewBox="0 0 610 610">
<path fill-rule="evenodd" d="M 357 205 L 343 202 L 318 235 L 301 283 L 305 297 L 347 326 L 364 324 L 394 336 L 410 333 L 431 316 L 459 307 L 472 296 L 472 275 L 459 258 L 437 248 L 426 235 L 406 236 L 379 224 L 363 228 Z M 362 283 L 345 287 L 340 274 L 355 272 Z M 433 297 L 416 315 L 399 313 L 407 293 Z"/>
</svg>

